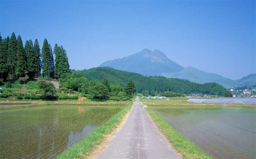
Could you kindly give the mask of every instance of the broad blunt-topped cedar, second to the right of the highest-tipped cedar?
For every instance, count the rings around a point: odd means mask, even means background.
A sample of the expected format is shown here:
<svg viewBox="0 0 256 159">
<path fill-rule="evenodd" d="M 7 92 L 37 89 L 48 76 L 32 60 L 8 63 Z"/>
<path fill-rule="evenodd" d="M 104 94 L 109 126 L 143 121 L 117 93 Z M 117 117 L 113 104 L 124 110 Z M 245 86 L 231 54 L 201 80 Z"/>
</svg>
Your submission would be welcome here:
<svg viewBox="0 0 256 159">
<path fill-rule="evenodd" d="M 34 48 L 33 48 L 33 42 L 30 39 L 27 40 L 25 43 L 25 53 L 26 53 L 26 59 L 27 59 L 27 72 L 29 75 L 29 78 L 32 79 L 35 74 L 37 73 L 37 59 L 35 56 Z"/>
</svg>

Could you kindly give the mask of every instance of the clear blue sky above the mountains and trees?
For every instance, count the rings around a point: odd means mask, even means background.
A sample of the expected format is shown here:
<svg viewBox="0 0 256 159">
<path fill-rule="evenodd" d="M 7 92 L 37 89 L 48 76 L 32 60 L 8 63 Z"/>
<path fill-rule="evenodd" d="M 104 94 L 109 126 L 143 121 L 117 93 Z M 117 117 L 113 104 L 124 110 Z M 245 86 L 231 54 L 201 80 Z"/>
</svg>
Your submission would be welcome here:
<svg viewBox="0 0 256 159">
<path fill-rule="evenodd" d="M 3 38 L 63 45 L 71 69 L 158 49 L 183 67 L 240 79 L 256 73 L 256 1 L 0 0 Z"/>
</svg>

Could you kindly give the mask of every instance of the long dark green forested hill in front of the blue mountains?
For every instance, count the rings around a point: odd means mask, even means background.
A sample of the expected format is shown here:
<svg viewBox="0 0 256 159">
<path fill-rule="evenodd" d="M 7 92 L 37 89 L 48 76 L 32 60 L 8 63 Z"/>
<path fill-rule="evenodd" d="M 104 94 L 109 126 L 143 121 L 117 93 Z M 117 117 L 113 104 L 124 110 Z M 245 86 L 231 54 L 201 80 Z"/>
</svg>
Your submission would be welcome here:
<svg viewBox="0 0 256 159">
<path fill-rule="evenodd" d="M 132 79 L 137 92 L 142 91 L 156 91 L 165 92 L 173 91 L 180 94 L 190 94 L 196 92 L 202 92 L 203 94 L 222 95 L 226 89 L 217 83 L 205 83 L 199 84 L 189 82 L 188 80 L 166 78 L 162 76 L 143 76 L 139 73 L 121 71 L 110 67 L 97 67 L 91 69 L 84 69 L 82 74 L 88 80 L 99 80 L 102 81 L 105 77 L 108 79 L 110 84 L 120 84 L 123 88 L 127 83 L 128 79 Z"/>
</svg>

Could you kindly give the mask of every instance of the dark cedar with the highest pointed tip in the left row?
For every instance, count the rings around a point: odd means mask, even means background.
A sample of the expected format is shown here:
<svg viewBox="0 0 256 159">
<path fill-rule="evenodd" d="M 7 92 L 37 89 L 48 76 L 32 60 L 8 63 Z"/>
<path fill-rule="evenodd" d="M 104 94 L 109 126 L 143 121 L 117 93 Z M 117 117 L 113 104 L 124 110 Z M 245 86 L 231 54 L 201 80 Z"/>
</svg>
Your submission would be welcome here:
<svg viewBox="0 0 256 159">
<path fill-rule="evenodd" d="M 14 77 L 14 71 L 15 71 L 16 50 L 17 50 L 17 40 L 16 40 L 15 33 L 12 32 L 11 38 L 8 42 L 8 56 L 7 56 L 8 73 L 11 73 L 12 77 Z"/>
</svg>

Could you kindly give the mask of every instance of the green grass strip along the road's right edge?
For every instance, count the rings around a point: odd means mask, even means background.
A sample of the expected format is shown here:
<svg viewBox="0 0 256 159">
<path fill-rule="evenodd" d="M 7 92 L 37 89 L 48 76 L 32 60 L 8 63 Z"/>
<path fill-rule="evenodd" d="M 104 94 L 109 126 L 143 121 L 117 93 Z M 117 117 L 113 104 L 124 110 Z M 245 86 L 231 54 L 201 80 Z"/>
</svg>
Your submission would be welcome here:
<svg viewBox="0 0 256 159">
<path fill-rule="evenodd" d="M 194 143 L 186 139 L 179 134 L 172 126 L 170 126 L 163 118 L 156 114 L 150 108 L 145 108 L 148 114 L 151 116 L 159 130 L 176 152 L 178 152 L 182 158 L 185 159 L 212 159 L 204 151 L 198 148 Z"/>
</svg>

